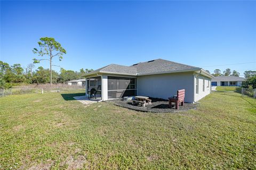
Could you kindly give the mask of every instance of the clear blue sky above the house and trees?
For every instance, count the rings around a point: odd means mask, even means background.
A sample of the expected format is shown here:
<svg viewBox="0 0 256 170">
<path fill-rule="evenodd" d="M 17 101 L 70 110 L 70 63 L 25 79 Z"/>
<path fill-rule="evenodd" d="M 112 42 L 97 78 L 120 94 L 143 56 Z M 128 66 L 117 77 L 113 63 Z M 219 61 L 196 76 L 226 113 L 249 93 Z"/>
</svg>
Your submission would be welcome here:
<svg viewBox="0 0 256 170">
<path fill-rule="evenodd" d="M 256 63 L 205 66 L 256 62 L 256 2 L 1 1 L 1 61 L 26 66 L 46 36 L 67 50 L 54 61 L 66 70 L 163 58 L 243 74 Z"/>
</svg>

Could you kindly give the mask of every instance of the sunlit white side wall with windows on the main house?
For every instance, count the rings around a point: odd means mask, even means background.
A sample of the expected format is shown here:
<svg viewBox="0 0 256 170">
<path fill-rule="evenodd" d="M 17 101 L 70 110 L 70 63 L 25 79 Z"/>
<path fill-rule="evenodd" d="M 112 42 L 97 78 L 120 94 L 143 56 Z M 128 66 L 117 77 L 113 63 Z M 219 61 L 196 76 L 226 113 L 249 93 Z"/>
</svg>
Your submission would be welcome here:
<svg viewBox="0 0 256 170">
<path fill-rule="evenodd" d="M 198 78 L 198 93 L 196 90 L 196 79 Z M 204 86 L 204 88 L 203 88 Z M 203 97 L 209 95 L 211 93 L 211 79 L 204 77 L 203 75 L 198 75 L 195 74 L 194 77 L 194 94 L 195 94 L 195 99 L 194 101 L 198 101 L 202 99 Z M 203 90 L 204 89 L 204 90 Z"/>
</svg>

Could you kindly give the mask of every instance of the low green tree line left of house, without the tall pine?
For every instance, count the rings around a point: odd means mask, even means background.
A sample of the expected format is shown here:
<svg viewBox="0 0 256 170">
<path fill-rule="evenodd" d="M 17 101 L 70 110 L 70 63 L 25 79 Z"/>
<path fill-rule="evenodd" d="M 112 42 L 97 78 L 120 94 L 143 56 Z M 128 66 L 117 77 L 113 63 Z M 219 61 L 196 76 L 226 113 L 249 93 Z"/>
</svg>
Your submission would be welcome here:
<svg viewBox="0 0 256 170">
<path fill-rule="evenodd" d="M 22 67 L 21 64 L 9 65 L 3 61 L 0 61 L 0 86 L 11 87 L 13 84 L 44 84 L 50 83 L 50 69 L 44 69 L 39 66 L 34 69 L 33 63 L 28 64 L 26 67 Z M 82 79 L 85 73 L 93 71 L 92 69 L 80 69 L 78 71 L 60 69 L 60 73 L 52 70 L 52 83 L 64 83 L 69 80 Z"/>
</svg>

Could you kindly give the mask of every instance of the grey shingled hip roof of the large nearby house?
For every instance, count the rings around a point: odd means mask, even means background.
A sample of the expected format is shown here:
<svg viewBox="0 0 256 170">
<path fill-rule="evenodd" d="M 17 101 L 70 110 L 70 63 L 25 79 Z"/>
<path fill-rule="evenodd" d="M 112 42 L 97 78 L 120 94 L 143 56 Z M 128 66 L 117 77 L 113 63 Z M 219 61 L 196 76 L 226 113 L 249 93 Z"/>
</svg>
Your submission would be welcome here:
<svg viewBox="0 0 256 170">
<path fill-rule="evenodd" d="M 91 75 L 95 73 L 111 73 L 111 74 L 126 74 L 126 75 L 150 75 L 150 74 L 162 74 L 172 72 L 187 72 L 187 71 L 201 71 L 202 69 L 195 66 L 190 66 L 181 63 L 175 63 L 167 60 L 157 59 L 148 62 L 142 62 L 133 64 L 131 66 L 110 64 L 92 72 L 86 73 Z M 202 70 L 204 71 L 204 70 Z M 205 71 L 204 71 L 205 72 Z M 205 72 L 205 74 L 209 74 Z M 208 75 L 212 77 L 212 75 Z"/>
</svg>

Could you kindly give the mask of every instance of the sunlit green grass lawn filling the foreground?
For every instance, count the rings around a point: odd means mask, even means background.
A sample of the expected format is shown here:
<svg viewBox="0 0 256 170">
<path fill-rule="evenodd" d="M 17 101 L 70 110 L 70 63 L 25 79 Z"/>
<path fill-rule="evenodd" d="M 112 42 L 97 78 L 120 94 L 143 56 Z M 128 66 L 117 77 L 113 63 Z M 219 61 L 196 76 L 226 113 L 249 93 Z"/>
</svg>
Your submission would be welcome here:
<svg viewBox="0 0 256 170">
<path fill-rule="evenodd" d="M 256 169 L 256 100 L 234 94 L 164 114 L 79 91 L 0 98 L 0 169 Z"/>
</svg>

